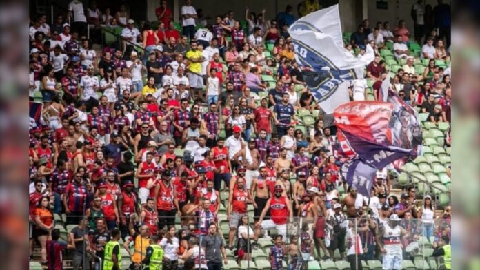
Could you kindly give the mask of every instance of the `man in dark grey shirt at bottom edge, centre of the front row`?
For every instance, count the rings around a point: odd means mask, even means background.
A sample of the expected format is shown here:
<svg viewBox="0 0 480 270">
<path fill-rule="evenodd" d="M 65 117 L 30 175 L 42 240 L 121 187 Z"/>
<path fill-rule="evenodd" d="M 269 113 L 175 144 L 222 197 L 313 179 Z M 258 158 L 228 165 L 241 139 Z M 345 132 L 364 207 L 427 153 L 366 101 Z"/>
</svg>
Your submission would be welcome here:
<svg viewBox="0 0 480 270">
<path fill-rule="evenodd" d="M 225 252 L 225 247 L 223 247 L 223 241 L 221 236 L 217 233 L 217 225 L 210 223 L 208 227 L 208 234 L 203 237 L 201 241 L 201 246 L 206 250 L 206 260 L 208 270 L 221 270 L 222 269 L 222 258 L 223 263 L 227 265 L 227 256 Z"/>
</svg>

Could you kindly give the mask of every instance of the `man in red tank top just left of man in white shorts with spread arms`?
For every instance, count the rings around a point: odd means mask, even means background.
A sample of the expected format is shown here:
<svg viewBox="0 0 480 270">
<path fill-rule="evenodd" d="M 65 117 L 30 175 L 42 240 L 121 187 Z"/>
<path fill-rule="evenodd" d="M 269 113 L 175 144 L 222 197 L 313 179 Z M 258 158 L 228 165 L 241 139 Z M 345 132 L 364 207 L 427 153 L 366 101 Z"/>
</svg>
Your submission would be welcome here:
<svg viewBox="0 0 480 270">
<path fill-rule="evenodd" d="M 247 203 L 252 202 L 252 197 L 245 188 L 245 179 L 237 179 L 237 187 L 230 189 L 227 205 L 227 220 L 230 232 L 228 233 L 228 248 L 233 249 L 233 238 L 237 233 L 241 217 L 247 213 Z"/>
</svg>

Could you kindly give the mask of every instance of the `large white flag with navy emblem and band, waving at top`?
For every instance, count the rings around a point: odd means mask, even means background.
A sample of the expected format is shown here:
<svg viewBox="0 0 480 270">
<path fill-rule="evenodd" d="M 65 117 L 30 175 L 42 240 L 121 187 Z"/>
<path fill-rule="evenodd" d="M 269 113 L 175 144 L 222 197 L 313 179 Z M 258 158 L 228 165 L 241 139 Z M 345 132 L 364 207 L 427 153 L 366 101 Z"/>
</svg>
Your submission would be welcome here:
<svg viewBox="0 0 480 270">
<path fill-rule="evenodd" d="M 365 55 L 357 58 L 343 47 L 338 5 L 302 17 L 288 32 L 297 62 L 313 71 L 314 76 L 306 82 L 322 109 L 329 114 L 348 102 L 344 82 L 362 79 L 363 69 L 373 61 L 374 52 L 367 45 Z"/>
</svg>

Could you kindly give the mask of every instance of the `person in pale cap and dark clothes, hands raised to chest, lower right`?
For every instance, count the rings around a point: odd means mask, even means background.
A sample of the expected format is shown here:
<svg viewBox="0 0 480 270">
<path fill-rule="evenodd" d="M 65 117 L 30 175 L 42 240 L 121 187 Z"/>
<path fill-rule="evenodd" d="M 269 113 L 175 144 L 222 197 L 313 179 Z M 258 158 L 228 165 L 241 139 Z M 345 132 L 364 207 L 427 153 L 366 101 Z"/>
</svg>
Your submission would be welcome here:
<svg viewBox="0 0 480 270">
<path fill-rule="evenodd" d="M 328 218 L 328 225 L 332 226 L 333 229 L 330 231 L 330 246 L 328 247 L 328 253 L 330 253 L 330 258 L 333 258 L 335 249 L 339 249 L 340 258 L 343 260 L 345 252 L 345 235 L 346 228 L 343 225 L 343 222 L 347 220 L 346 216 L 341 212 L 341 205 L 336 203 L 333 205 L 335 214 L 331 215 Z"/>
</svg>

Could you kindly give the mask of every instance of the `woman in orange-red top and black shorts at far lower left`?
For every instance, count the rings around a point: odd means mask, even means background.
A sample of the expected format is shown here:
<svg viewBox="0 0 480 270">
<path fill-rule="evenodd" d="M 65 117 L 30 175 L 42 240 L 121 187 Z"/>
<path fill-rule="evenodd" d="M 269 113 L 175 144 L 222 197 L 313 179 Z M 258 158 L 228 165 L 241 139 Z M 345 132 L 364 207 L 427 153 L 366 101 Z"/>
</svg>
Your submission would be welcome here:
<svg viewBox="0 0 480 270">
<path fill-rule="evenodd" d="M 41 185 L 41 184 L 38 184 Z M 53 213 L 50 210 L 50 198 L 41 198 L 37 210 L 35 210 L 35 224 L 33 238 L 37 238 L 41 245 L 41 264 L 47 264 L 47 240 L 50 238 L 50 232 L 54 228 Z"/>
</svg>

